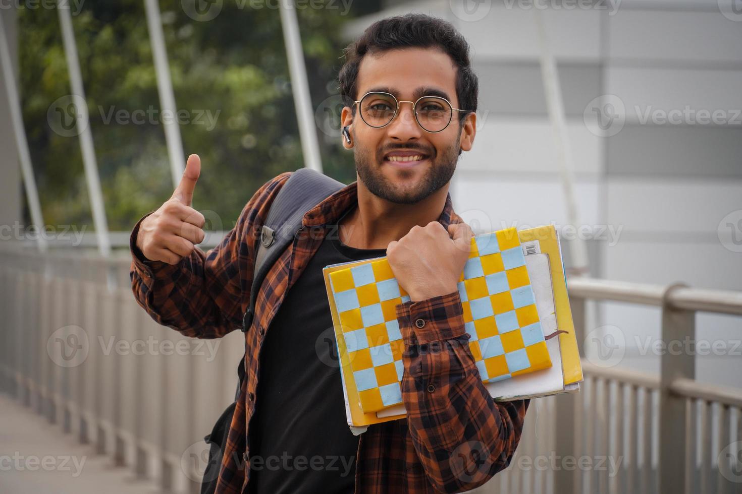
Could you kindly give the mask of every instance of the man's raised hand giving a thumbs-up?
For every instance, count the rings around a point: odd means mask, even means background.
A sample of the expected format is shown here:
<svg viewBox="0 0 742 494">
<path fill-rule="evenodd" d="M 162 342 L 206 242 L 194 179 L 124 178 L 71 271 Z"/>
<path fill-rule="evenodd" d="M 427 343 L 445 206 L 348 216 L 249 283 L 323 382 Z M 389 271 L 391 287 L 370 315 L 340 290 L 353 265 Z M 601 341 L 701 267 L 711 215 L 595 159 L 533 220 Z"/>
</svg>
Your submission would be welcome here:
<svg viewBox="0 0 742 494">
<path fill-rule="evenodd" d="M 203 241 L 206 218 L 191 207 L 200 173 L 201 159 L 195 154 L 188 156 L 183 178 L 171 198 L 139 224 L 137 247 L 145 258 L 177 264 Z"/>
</svg>

